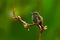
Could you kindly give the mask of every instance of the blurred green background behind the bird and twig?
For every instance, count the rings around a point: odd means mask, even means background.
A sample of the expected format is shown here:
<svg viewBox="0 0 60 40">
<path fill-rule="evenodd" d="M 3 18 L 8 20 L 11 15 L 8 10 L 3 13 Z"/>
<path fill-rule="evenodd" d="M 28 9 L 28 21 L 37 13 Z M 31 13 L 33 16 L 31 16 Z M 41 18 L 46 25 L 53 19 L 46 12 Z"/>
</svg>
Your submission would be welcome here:
<svg viewBox="0 0 60 40">
<path fill-rule="evenodd" d="M 12 6 L 16 15 L 32 23 L 32 12 L 37 11 L 44 18 L 43 25 L 48 29 L 43 33 L 43 40 L 60 40 L 60 0 L 0 0 L 0 40 L 38 40 L 39 29 L 30 27 L 12 19 Z"/>
</svg>

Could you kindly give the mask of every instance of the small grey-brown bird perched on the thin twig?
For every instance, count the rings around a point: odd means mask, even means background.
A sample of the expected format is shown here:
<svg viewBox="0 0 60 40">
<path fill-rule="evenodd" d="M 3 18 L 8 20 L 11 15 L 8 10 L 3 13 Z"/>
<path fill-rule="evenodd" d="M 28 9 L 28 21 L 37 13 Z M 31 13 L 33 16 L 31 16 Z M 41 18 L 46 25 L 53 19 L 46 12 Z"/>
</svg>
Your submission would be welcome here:
<svg viewBox="0 0 60 40">
<path fill-rule="evenodd" d="M 33 12 L 32 13 L 32 21 L 34 24 L 38 24 L 41 22 L 41 25 L 43 23 L 43 17 L 40 16 L 40 14 L 38 12 Z"/>
</svg>

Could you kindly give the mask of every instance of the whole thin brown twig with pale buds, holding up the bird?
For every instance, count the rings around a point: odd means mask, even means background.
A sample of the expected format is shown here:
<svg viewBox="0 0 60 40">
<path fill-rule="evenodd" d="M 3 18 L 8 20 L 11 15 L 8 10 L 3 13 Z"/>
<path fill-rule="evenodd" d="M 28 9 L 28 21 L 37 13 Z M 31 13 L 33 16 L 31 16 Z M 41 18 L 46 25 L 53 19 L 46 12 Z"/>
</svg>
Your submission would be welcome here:
<svg viewBox="0 0 60 40">
<path fill-rule="evenodd" d="M 39 40 L 42 40 L 42 33 L 43 33 L 44 30 L 47 29 L 47 26 L 42 27 L 39 24 L 29 24 L 29 23 L 27 23 L 26 21 L 22 20 L 22 18 L 20 16 L 15 15 L 15 8 L 13 8 L 13 19 L 16 19 L 16 20 L 22 22 L 23 25 L 24 25 L 24 28 L 29 28 L 29 27 L 31 27 L 33 25 L 37 25 L 39 30 L 40 30 Z"/>
</svg>

